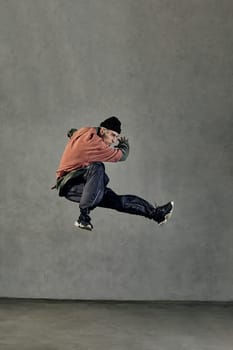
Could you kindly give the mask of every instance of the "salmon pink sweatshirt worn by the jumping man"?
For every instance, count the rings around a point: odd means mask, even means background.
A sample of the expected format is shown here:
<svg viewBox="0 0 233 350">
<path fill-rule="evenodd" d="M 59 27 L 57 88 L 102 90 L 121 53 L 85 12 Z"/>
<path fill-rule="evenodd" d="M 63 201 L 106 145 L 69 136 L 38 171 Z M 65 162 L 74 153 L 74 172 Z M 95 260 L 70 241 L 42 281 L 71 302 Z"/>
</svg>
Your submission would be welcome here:
<svg viewBox="0 0 233 350">
<path fill-rule="evenodd" d="M 111 148 L 104 143 L 97 135 L 97 128 L 81 128 L 73 133 L 65 147 L 56 171 L 57 178 L 93 162 L 118 162 L 122 155 L 119 148 Z"/>
</svg>

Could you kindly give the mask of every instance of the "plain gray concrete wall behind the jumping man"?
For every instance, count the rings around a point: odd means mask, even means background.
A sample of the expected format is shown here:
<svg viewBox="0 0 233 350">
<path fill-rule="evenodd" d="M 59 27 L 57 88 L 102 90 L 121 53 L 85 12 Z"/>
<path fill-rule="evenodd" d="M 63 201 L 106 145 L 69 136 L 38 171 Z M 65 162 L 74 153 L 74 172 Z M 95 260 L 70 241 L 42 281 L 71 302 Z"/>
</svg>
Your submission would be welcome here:
<svg viewBox="0 0 233 350">
<path fill-rule="evenodd" d="M 233 3 L 1 0 L 0 296 L 232 300 Z M 93 232 L 50 186 L 70 127 L 118 115 L 111 187 L 165 226 L 104 209 Z"/>
</svg>

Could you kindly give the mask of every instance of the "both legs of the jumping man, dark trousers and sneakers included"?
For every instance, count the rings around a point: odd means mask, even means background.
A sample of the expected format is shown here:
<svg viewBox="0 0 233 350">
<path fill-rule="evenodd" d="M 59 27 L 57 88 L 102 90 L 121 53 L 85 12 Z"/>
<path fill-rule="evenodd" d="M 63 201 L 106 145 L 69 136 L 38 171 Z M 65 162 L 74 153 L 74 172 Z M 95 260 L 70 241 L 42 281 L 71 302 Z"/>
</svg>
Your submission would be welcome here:
<svg viewBox="0 0 233 350">
<path fill-rule="evenodd" d="M 71 201 L 80 203 L 80 217 L 75 225 L 91 230 L 93 228 L 89 216 L 90 210 L 95 207 L 115 209 L 133 215 L 144 216 L 155 220 L 158 224 L 167 221 L 173 210 L 173 202 L 163 206 L 154 207 L 141 197 L 135 195 L 117 195 L 107 188 L 109 179 L 105 174 L 103 163 L 91 164 L 79 183 L 73 184 L 65 197 Z"/>
</svg>

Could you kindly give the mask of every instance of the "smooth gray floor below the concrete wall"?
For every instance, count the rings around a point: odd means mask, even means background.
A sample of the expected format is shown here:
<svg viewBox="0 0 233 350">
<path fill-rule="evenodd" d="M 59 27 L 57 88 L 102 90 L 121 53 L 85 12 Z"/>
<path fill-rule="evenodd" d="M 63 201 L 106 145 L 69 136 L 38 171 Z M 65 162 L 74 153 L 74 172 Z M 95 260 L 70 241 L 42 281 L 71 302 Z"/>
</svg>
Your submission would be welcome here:
<svg viewBox="0 0 233 350">
<path fill-rule="evenodd" d="M 0 299 L 1 350 L 232 350 L 232 304 Z"/>
</svg>

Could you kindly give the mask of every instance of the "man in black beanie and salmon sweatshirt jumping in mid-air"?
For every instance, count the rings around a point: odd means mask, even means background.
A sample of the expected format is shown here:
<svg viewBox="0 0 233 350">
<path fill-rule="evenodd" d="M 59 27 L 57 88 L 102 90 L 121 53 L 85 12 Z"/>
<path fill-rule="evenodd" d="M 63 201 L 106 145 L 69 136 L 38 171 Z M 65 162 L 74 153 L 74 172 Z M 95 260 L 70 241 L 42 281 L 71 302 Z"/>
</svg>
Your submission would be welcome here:
<svg viewBox="0 0 233 350">
<path fill-rule="evenodd" d="M 129 154 L 129 143 L 120 137 L 121 122 L 110 117 L 99 127 L 71 129 L 70 138 L 57 169 L 56 186 L 59 196 L 79 203 L 80 216 L 76 227 L 92 230 L 90 212 L 96 207 L 141 215 L 163 224 L 171 216 L 174 203 L 154 207 L 135 195 L 118 195 L 107 184 L 104 162 L 124 161 Z M 115 144 L 115 147 L 112 147 Z"/>
</svg>

